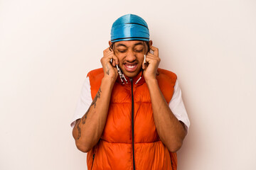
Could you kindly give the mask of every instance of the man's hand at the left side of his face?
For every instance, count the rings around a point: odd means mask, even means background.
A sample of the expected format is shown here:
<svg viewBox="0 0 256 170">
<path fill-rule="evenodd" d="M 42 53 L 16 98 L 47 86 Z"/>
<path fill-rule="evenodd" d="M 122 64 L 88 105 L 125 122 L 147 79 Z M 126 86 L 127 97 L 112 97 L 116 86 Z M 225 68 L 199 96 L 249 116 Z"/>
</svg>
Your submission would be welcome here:
<svg viewBox="0 0 256 170">
<path fill-rule="evenodd" d="M 110 62 L 112 60 L 112 63 Z M 118 77 L 116 65 L 119 64 L 117 56 L 114 55 L 114 51 L 110 51 L 110 47 L 107 47 L 103 51 L 103 57 L 100 60 L 104 70 L 104 77 L 110 79 L 114 83 Z"/>
</svg>

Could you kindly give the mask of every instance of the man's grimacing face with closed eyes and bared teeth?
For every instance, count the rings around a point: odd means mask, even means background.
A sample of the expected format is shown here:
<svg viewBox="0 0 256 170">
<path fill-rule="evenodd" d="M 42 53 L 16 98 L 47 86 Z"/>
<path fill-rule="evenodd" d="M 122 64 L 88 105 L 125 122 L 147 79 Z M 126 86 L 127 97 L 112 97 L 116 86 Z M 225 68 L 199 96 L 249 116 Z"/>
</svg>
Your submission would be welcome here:
<svg viewBox="0 0 256 170">
<path fill-rule="evenodd" d="M 122 73 L 127 77 L 136 77 L 144 63 L 144 54 L 146 55 L 147 52 L 146 43 L 140 40 L 119 41 L 114 43 L 113 49 Z"/>
</svg>

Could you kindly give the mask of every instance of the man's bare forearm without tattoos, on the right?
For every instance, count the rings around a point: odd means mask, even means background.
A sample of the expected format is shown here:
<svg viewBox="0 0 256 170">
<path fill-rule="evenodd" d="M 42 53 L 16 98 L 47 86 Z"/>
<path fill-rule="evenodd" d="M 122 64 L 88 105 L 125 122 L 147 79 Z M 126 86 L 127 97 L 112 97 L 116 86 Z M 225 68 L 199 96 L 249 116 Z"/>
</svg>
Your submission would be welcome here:
<svg viewBox="0 0 256 170">
<path fill-rule="evenodd" d="M 176 152 L 186 136 L 183 124 L 178 121 L 159 89 L 156 79 L 147 82 L 151 97 L 156 130 L 161 141 L 171 152 Z"/>
</svg>

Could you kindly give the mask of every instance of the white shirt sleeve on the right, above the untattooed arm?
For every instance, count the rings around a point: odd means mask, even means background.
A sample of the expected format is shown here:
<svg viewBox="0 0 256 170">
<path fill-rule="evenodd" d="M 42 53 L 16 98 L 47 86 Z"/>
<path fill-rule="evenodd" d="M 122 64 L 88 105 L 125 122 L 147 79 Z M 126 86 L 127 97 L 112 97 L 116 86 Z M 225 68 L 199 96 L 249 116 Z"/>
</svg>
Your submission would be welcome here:
<svg viewBox="0 0 256 170">
<path fill-rule="evenodd" d="M 185 124 L 186 131 L 188 132 L 190 121 L 188 119 L 188 114 L 186 113 L 184 103 L 182 101 L 181 89 L 178 86 L 178 80 L 176 81 L 176 84 L 174 86 L 174 95 L 169 102 L 169 107 L 171 108 L 171 111 L 172 113 L 174 113 L 176 118 Z"/>
</svg>

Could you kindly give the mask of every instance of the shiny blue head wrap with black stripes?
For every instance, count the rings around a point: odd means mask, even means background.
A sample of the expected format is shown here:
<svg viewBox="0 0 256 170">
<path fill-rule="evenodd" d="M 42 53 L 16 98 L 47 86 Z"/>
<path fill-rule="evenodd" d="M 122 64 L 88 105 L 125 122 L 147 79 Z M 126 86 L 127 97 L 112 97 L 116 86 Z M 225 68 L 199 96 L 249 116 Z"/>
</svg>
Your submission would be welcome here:
<svg viewBox="0 0 256 170">
<path fill-rule="evenodd" d="M 121 16 L 111 28 L 111 42 L 122 40 L 149 41 L 149 28 L 146 21 L 134 14 Z"/>
</svg>

